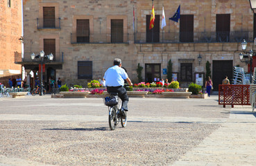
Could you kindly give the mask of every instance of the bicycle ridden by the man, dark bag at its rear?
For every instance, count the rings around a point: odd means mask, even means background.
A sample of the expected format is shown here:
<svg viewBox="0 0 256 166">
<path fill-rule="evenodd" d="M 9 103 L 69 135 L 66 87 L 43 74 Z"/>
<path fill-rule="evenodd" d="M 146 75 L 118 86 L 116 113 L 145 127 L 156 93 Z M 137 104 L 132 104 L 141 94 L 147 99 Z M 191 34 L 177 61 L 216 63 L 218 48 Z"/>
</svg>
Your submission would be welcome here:
<svg viewBox="0 0 256 166">
<path fill-rule="evenodd" d="M 121 113 L 122 101 L 117 93 L 111 93 L 109 97 L 104 98 L 104 102 L 108 106 L 108 123 L 110 129 L 116 129 L 119 122 L 121 122 L 122 127 L 126 127 L 127 114 L 125 113 L 126 115 L 123 115 L 124 111 Z"/>
</svg>

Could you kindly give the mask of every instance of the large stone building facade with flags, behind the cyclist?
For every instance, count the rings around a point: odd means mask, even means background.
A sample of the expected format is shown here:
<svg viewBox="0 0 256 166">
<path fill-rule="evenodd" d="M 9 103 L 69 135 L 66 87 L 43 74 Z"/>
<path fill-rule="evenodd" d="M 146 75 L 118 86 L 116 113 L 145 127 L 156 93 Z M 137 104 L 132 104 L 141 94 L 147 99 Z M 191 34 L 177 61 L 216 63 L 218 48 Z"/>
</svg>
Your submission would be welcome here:
<svg viewBox="0 0 256 166">
<path fill-rule="evenodd" d="M 153 5 L 155 26 L 149 30 Z M 179 5 L 180 19 L 171 21 Z M 163 6 L 167 26 L 161 29 Z M 53 25 L 49 20 L 54 20 Z M 254 22 L 248 1 L 24 0 L 24 60 L 19 64 L 37 72 L 31 53 L 51 52 L 55 59 L 45 65 L 45 82 L 61 77 L 68 85 L 85 86 L 102 78 L 115 57 L 122 59 L 135 83 L 138 64 L 143 67 L 143 80 L 155 82 L 167 77 L 171 59 L 173 77 L 187 86 L 204 84 L 205 64 L 210 62 L 217 89 L 225 75 L 232 77 L 233 66 L 248 71 L 239 60 L 240 44 L 246 39 L 248 48 L 255 49 Z"/>
</svg>

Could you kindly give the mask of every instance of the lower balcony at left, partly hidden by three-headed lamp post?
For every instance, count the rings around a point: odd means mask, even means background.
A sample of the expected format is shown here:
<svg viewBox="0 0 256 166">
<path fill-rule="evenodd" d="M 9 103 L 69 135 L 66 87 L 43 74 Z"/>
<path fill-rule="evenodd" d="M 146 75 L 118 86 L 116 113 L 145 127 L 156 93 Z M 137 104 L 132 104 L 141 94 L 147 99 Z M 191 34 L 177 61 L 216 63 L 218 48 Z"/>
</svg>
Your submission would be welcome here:
<svg viewBox="0 0 256 166">
<path fill-rule="evenodd" d="M 31 53 L 17 53 L 15 52 L 15 64 L 38 64 L 35 60 L 31 59 Z M 49 64 L 63 64 L 64 63 L 64 53 L 56 53 L 56 55 L 53 55 L 53 61 L 49 62 Z"/>
</svg>

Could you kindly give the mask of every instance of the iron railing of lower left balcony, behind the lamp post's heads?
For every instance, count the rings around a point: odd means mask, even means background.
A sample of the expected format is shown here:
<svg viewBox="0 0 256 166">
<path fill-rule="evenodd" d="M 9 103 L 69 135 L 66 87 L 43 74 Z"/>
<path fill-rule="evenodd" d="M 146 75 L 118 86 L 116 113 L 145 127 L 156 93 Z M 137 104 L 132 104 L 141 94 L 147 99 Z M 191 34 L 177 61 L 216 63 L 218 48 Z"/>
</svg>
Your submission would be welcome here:
<svg viewBox="0 0 256 166">
<path fill-rule="evenodd" d="M 39 59 L 31 59 L 31 54 L 32 53 L 24 53 L 24 55 L 22 55 L 22 53 L 17 53 L 15 52 L 15 62 L 35 62 L 35 61 L 40 61 Z M 39 53 L 35 52 L 35 55 L 39 55 Z M 53 62 L 64 62 L 63 61 L 64 58 L 64 53 L 53 53 Z"/>
</svg>

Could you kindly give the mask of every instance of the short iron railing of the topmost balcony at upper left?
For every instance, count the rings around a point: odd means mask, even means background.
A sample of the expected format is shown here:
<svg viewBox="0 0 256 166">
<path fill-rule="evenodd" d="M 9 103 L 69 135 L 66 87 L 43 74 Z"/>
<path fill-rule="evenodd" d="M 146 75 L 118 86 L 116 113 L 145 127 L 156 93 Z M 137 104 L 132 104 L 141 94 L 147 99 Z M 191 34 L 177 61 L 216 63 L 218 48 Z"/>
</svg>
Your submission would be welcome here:
<svg viewBox="0 0 256 166">
<path fill-rule="evenodd" d="M 38 19 L 37 18 L 37 29 L 60 29 L 60 18 L 55 19 Z"/>
</svg>

